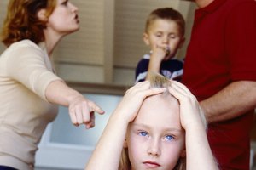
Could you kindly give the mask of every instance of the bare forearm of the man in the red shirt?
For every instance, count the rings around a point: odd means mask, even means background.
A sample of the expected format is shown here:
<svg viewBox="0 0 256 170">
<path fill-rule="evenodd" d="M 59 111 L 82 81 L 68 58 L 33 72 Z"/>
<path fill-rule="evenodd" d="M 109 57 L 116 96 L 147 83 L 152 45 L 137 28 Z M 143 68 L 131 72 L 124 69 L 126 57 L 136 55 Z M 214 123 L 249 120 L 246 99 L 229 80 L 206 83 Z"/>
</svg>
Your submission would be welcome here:
<svg viewBox="0 0 256 170">
<path fill-rule="evenodd" d="M 212 97 L 200 102 L 208 122 L 241 116 L 256 107 L 256 82 L 232 82 Z"/>
</svg>

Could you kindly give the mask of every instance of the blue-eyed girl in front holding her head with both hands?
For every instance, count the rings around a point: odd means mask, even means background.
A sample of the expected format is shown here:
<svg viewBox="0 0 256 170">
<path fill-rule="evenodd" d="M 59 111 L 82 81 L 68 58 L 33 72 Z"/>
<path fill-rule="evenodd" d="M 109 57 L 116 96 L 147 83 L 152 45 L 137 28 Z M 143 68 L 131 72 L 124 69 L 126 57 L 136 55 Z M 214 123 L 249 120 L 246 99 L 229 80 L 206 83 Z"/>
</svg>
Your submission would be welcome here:
<svg viewBox="0 0 256 170">
<path fill-rule="evenodd" d="M 183 84 L 158 75 L 126 92 L 85 169 L 186 168 L 218 166 L 197 100 Z"/>
</svg>

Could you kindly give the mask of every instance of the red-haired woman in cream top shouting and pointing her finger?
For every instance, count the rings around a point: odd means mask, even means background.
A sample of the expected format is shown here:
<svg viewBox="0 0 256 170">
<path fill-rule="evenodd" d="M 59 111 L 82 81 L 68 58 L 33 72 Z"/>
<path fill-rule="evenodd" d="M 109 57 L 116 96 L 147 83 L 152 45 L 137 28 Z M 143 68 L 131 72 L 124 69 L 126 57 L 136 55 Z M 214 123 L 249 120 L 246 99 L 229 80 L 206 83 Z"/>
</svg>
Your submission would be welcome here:
<svg viewBox="0 0 256 170">
<path fill-rule="evenodd" d="M 78 8 L 68 0 L 9 0 L 1 34 L 0 169 L 33 169 L 38 142 L 69 108 L 74 125 L 94 126 L 96 104 L 55 75 L 49 55 L 61 37 L 79 30 Z M 53 105 L 57 104 L 57 105 Z"/>
</svg>

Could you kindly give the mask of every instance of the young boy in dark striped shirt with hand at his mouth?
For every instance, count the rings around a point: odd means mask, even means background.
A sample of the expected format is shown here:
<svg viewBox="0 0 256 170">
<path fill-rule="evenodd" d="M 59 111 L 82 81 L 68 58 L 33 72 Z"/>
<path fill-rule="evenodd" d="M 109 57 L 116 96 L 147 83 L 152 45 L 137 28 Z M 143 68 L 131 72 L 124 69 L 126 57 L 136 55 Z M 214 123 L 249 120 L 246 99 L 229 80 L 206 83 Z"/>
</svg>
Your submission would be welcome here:
<svg viewBox="0 0 256 170">
<path fill-rule="evenodd" d="M 183 46 L 185 21 L 182 14 L 173 8 L 157 8 L 149 14 L 143 40 L 151 48 L 136 69 L 136 83 L 148 79 L 148 71 L 181 81 L 183 61 L 173 59 L 178 48 Z"/>
</svg>

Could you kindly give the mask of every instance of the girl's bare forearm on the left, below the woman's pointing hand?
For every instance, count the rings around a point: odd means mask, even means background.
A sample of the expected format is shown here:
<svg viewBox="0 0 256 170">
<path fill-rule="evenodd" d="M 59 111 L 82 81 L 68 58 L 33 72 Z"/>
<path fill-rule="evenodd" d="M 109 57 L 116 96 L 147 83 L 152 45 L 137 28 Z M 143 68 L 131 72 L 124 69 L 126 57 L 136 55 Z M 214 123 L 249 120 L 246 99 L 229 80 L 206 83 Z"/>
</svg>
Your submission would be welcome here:
<svg viewBox="0 0 256 170">
<path fill-rule="evenodd" d="M 127 125 L 128 123 L 121 116 L 115 113 L 110 116 L 85 170 L 118 169 Z"/>
</svg>

